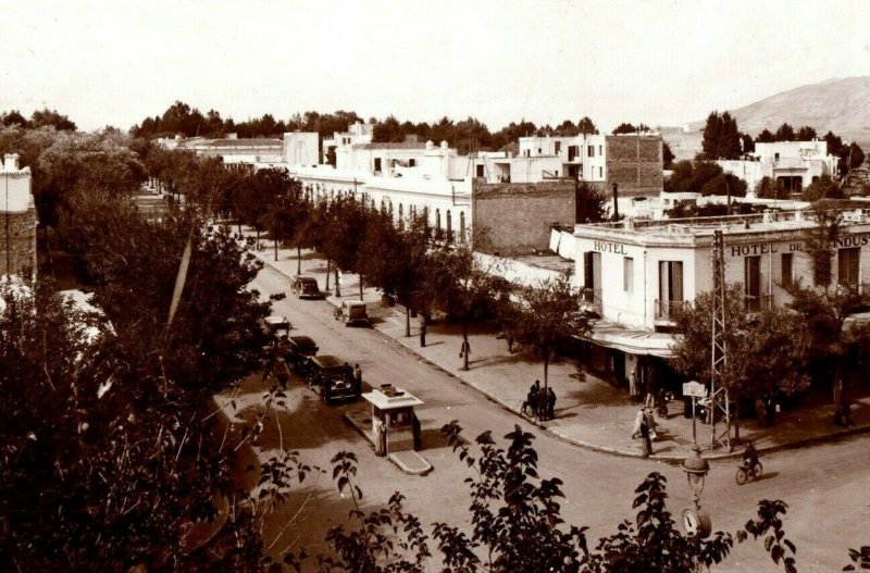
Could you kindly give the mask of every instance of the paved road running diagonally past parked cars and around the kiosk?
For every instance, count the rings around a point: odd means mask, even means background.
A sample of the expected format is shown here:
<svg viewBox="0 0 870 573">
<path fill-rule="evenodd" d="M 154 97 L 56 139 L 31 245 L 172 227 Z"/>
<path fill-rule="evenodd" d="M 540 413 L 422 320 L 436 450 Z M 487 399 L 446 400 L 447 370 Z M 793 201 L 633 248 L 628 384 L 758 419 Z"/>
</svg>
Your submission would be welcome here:
<svg viewBox="0 0 870 573">
<path fill-rule="evenodd" d="M 254 286 L 263 294 L 283 292 L 287 279 L 266 266 Z M 298 381 L 291 384 L 290 412 L 282 416 L 285 446 L 300 450 L 306 461 L 324 468 L 330 466 L 330 458 L 336 451 L 357 452 L 365 508 L 380 507 L 393 491 L 400 490 L 408 498 L 407 508 L 424 524 L 464 522 L 469 498 L 462 479 L 471 474 L 438 435 L 438 428 L 451 420 L 460 421 L 469 439 L 487 429 L 502 436 L 514 424 L 535 435 L 542 475 L 558 476 L 564 482 L 563 516 L 569 523 L 588 525 L 592 539 L 613 533 L 620 521 L 632 515 L 634 488 L 650 471 L 660 471 L 668 477 L 671 511 L 679 514 L 688 502 L 688 487 L 679 468 L 597 453 L 555 438 L 421 361 L 388 337 L 371 329 L 343 326 L 333 320 L 332 307 L 326 301 L 302 301 L 289 295 L 273 308 L 290 319 L 297 333 L 312 336 L 321 353 L 359 363 L 364 383 L 393 383 L 425 402 L 418 414 L 423 426 L 422 453 L 434 471 L 415 477 L 376 458 L 369 444 L 343 421 L 346 409 L 364 408 L 364 402 L 325 407 Z M 870 525 L 868 460 L 870 440 L 861 436 L 781 452 L 762 460 L 765 478 L 742 487 L 734 483 L 734 462 L 714 463 L 703 502 L 713 516 L 714 528 L 734 531 L 754 513 L 758 499 L 786 500 L 791 510 L 785 527 L 798 546 L 799 570 L 838 571 L 846 564 L 848 547 L 870 544 L 870 536 L 863 534 Z M 275 552 L 290 545 L 323 547 L 325 528 L 344 522 L 352 507 L 348 498 L 338 496 L 331 474 L 313 484 L 311 479 L 307 482 L 309 485 L 291 498 L 282 516 L 293 515 L 297 526 L 275 544 Z M 279 526 L 281 520 L 275 522 L 270 525 L 268 536 Z M 775 570 L 761 544 L 738 547 L 725 566 L 717 568 L 717 571 Z"/>
</svg>

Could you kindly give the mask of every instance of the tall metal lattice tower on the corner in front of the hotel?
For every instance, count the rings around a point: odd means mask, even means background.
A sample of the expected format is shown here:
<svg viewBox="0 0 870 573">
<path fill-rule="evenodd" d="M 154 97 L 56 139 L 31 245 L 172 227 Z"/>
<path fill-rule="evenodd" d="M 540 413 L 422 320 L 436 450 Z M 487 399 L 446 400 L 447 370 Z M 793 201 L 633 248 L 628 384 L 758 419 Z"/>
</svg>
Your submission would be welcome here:
<svg viewBox="0 0 870 573">
<path fill-rule="evenodd" d="M 731 412 L 728 385 L 724 381 L 726 364 L 725 348 L 725 241 L 721 231 L 713 232 L 713 297 L 712 333 L 710 338 L 710 449 L 722 447 L 731 451 Z M 725 423 L 720 429 L 720 418 Z"/>
</svg>

